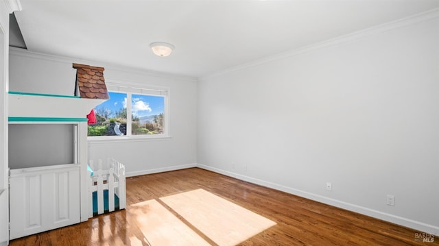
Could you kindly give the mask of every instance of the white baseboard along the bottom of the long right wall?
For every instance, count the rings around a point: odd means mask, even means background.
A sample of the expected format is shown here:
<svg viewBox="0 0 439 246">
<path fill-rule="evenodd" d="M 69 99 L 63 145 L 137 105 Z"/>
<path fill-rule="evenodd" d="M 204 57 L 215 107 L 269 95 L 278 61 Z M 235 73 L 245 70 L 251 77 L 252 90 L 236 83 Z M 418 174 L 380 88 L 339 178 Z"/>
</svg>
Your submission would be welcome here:
<svg viewBox="0 0 439 246">
<path fill-rule="evenodd" d="M 429 224 L 426 224 L 426 223 L 422 223 L 420 221 L 414 221 L 412 219 L 407 219 L 407 218 L 399 217 L 399 216 L 396 216 L 394 214 L 388 214 L 388 213 L 385 213 L 385 212 L 380 212 L 378 210 L 373 210 L 373 209 L 366 208 L 366 207 L 363 207 L 363 206 L 357 206 L 355 204 L 349 204 L 349 203 L 346 203 L 344 201 L 340 201 L 340 200 L 337 200 L 337 199 L 332 199 L 332 198 L 329 198 L 329 197 L 324 197 L 322 195 L 316 195 L 316 194 L 313 194 L 313 193 L 306 192 L 304 190 L 298 190 L 296 188 L 291 188 L 291 187 L 283 186 L 281 184 L 275 184 L 275 183 L 272 183 L 272 182 L 267 182 L 265 180 L 259 180 L 259 179 L 256 179 L 254 177 L 248 177 L 246 175 L 241 175 L 241 174 L 238 174 L 238 173 L 233 173 L 233 172 L 225 171 L 225 170 L 222 170 L 222 169 L 217 169 L 215 167 L 209 167 L 209 166 L 206 166 L 206 165 L 203 165 L 203 164 L 196 164 L 196 167 L 199 167 L 200 169 L 206 169 L 206 170 L 209 170 L 209 171 L 213 171 L 215 173 L 220 173 L 220 174 L 223 174 L 223 175 L 226 175 L 226 176 L 229 176 L 229 177 L 235 177 L 238 180 L 243 180 L 243 181 L 246 181 L 246 182 L 250 182 L 252 184 L 258 184 L 260 186 L 265 186 L 265 187 L 268 187 L 268 188 L 274 188 L 275 190 L 281 190 L 281 191 L 283 191 L 285 193 L 289 193 L 289 194 L 292 194 L 292 195 L 298 195 L 300 197 L 305 197 L 305 198 L 311 199 L 313 201 L 319 201 L 319 202 L 322 202 L 324 204 L 329 204 L 331 206 L 335 206 L 337 208 L 343 208 L 343 209 L 350 210 L 350 211 L 353 211 L 353 212 L 358 212 L 359 214 L 365 214 L 365 215 L 368 215 L 370 217 L 374 217 L 374 218 L 377 218 L 377 219 L 382 219 L 383 221 L 389 221 L 391 223 L 395 223 L 397 225 L 403 225 L 405 227 L 410 227 L 410 228 L 412 228 L 414 230 L 418 230 L 420 232 L 425 232 L 425 233 L 434 234 L 436 236 L 439 236 L 439 227 L 434 226 L 434 225 L 429 225 Z"/>
</svg>

